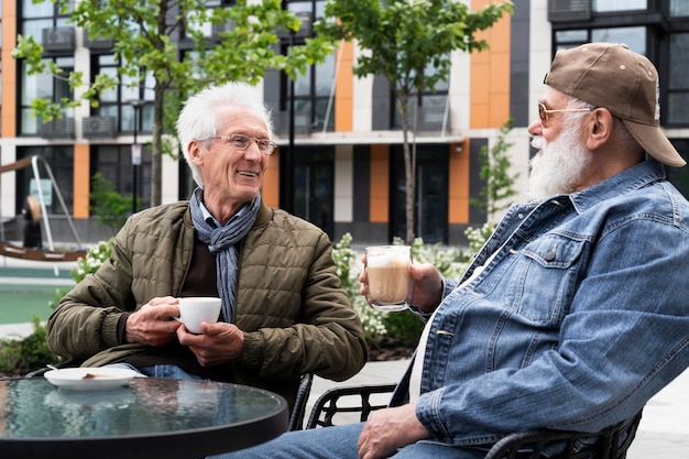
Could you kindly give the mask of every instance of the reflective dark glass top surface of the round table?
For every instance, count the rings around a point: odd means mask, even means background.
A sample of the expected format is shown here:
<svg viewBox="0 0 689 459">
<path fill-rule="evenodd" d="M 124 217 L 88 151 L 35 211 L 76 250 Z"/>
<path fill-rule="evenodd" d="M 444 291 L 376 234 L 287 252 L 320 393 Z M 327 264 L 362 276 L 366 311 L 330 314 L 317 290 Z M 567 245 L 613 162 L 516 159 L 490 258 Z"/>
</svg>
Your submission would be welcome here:
<svg viewBox="0 0 689 459">
<path fill-rule="evenodd" d="M 281 412 L 286 402 L 278 395 L 211 381 L 136 378 L 107 391 L 58 389 L 42 378 L 0 381 L 0 439 L 181 434 Z"/>
</svg>

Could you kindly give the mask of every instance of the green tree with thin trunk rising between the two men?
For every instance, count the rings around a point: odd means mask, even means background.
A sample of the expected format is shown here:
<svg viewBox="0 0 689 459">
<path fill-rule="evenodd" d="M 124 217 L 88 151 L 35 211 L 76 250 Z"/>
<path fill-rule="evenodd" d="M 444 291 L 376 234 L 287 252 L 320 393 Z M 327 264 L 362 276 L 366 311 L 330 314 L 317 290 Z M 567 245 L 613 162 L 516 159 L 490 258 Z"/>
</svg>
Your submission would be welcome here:
<svg viewBox="0 0 689 459">
<path fill-rule="evenodd" d="M 354 75 L 382 75 L 393 88 L 402 114 L 406 242 L 412 244 L 416 103 L 412 113 L 409 107 L 415 95 L 434 90 L 438 81 L 448 80 L 452 51 L 488 48 L 488 43 L 477 40 L 474 33 L 492 26 L 504 12 L 512 13 L 512 3 L 493 3 L 470 12 L 463 2 L 451 0 L 328 0 L 325 12 L 326 19 L 316 24 L 319 36 L 356 40 L 365 52 L 358 57 Z M 412 146 L 409 131 L 414 139 Z"/>
</svg>

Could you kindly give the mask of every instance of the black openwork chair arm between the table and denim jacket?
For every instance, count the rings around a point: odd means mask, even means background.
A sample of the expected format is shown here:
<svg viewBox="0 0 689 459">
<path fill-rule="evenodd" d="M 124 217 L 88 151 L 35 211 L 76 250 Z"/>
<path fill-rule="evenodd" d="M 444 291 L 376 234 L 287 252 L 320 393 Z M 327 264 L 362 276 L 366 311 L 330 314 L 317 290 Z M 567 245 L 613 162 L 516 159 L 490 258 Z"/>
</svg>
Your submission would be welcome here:
<svg viewBox="0 0 689 459">
<path fill-rule="evenodd" d="M 374 409 L 384 408 L 390 402 L 390 396 L 395 390 L 395 384 L 372 384 L 351 387 L 335 387 L 326 391 L 311 408 L 311 414 L 306 423 L 306 428 L 329 427 L 338 420 L 336 415 L 341 416 L 341 423 L 367 420 Z M 376 394 L 385 394 L 380 400 L 373 401 Z M 352 414 L 359 413 L 358 418 Z M 348 417 L 349 415 L 349 417 Z"/>
</svg>

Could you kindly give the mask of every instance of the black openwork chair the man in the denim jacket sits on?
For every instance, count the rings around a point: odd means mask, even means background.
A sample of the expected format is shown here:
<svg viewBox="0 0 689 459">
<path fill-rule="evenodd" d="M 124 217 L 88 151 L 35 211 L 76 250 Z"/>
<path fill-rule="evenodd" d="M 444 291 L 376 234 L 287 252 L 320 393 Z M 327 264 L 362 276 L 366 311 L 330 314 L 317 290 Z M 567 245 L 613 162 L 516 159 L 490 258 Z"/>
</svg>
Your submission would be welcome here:
<svg viewBox="0 0 689 459">
<path fill-rule="evenodd" d="M 326 391 L 314 404 L 306 428 L 336 425 L 335 417 L 358 413 L 367 420 L 371 412 L 387 406 L 373 403 L 374 394 L 392 393 L 394 384 L 335 387 Z M 594 434 L 537 429 L 507 435 L 495 442 L 484 459 L 624 459 L 636 435 L 642 412 L 632 419 Z M 356 422 L 351 415 L 344 422 Z M 561 451 L 553 455 L 553 451 Z"/>
</svg>

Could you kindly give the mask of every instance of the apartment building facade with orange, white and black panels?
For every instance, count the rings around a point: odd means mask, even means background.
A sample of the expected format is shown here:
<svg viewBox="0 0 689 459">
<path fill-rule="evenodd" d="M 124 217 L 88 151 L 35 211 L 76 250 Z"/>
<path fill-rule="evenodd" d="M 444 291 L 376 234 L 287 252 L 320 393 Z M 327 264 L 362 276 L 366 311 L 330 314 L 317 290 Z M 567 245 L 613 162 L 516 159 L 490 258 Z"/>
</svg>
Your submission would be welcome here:
<svg viewBox="0 0 689 459">
<path fill-rule="evenodd" d="M 308 21 L 322 14 L 324 3 L 284 2 L 285 8 L 307 19 L 299 36 L 308 35 Z M 474 10 L 486 3 L 468 2 Z M 513 15 L 482 34 L 490 51 L 453 53 L 449 81 L 433 92 L 417 95 L 415 233 L 425 242 L 462 243 L 467 227 L 479 227 L 486 220 L 470 204 L 484 186 L 480 151 L 494 144 L 508 119 L 513 120 L 506 136 L 512 143 L 512 173 L 518 176 L 515 189 L 525 189 L 528 160 L 534 153 L 526 128 L 537 116 L 543 77 L 558 48 L 611 41 L 624 42 L 647 55 L 660 73 L 661 125 L 689 159 L 688 1 L 514 3 Z M 31 100 L 72 95 L 65 83 L 28 75 L 24 64 L 11 57 L 17 34 L 32 34 L 41 41 L 44 57 L 61 68 L 88 75 L 117 72 L 112 43 L 89 41 L 87 31 L 68 24 L 67 17 L 47 0 L 35 4 L 32 0 L 3 0 L 1 11 L 0 164 L 33 155 L 44 157 L 80 239 L 95 242 L 103 232 L 89 214 L 94 174 L 100 172 L 124 195 L 138 194 L 143 207 L 150 205 L 151 152 L 146 142 L 151 139 L 152 91 L 122 86 L 102 95 L 98 108 L 84 105 L 61 120 L 43 124 L 32 116 Z M 282 39 L 285 52 L 293 40 Z M 404 237 L 406 229 L 401 122 L 385 78 L 353 76 L 359 52 L 356 43 L 344 44 L 293 84 L 282 73 L 266 73 L 263 92 L 273 110 L 280 149 L 271 159 L 263 196 L 269 205 L 287 207 L 320 226 L 333 240 L 349 232 L 354 242 L 389 242 L 395 236 Z M 140 164 L 132 155 L 133 143 L 144 145 Z M 686 167 L 669 173 L 689 195 Z M 165 156 L 162 177 L 164 203 L 188 198 L 193 183 L 184 162 Z M 42 185 L 30 170 L 0 176 L 0 215 L 7 234 L 22 225 L 22 201 L 36 186 Z M 69 240 L 65 210 L 57 199 L 47 210 L 54 239 Z"/>
</svg>

